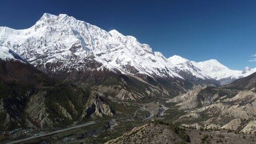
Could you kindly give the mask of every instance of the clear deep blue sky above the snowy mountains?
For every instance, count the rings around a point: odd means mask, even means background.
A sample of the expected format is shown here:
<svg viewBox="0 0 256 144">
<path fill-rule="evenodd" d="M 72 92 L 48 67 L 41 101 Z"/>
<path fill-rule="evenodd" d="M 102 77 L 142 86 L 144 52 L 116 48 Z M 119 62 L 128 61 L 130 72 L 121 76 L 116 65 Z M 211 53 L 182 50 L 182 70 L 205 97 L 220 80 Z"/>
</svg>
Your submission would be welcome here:
<svg viewBox="0 0 256 144">
<path fill-rule="evenodd" d="M 1 0 L 0 26 L 28 28 L 44 12 L 135 36 L 167 58 L 256 67 L 256 0 Z"/>
</svg>

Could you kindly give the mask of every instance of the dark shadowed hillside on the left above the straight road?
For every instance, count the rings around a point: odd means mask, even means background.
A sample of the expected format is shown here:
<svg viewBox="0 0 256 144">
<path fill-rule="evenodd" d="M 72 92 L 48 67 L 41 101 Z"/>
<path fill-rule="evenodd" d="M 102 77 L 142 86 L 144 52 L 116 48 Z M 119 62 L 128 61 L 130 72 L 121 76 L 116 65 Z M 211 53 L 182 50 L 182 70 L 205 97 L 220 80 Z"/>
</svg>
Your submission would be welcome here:
<svg viewBox="0 0 256 144">
<path fill-rule="evenodd" d="M 31 64 L 0 60 L 0 129 L 53 127 L 94 113 L 112 116 L 108 103 L 96 98 L 86 89 L 46 76 Z M 96 106 L 88 113 L 86 104 Z"/>
</svg>

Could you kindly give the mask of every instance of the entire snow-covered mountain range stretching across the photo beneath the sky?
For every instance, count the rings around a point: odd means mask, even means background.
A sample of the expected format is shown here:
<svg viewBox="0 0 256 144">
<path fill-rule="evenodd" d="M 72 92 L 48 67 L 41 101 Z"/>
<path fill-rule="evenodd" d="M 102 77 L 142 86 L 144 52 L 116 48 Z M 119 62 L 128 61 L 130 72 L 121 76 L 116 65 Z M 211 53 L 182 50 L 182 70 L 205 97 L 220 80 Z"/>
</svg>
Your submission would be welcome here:
<svg viewBox="0 0 256 144">
<path fill-rule="evenodd" d="M 171 77 L 201 84 L 228 84 L 256 72 L 235 71 L 217 60 L 195 62 L 180 56 L 165 58 L 133 36 L 105 31 L 72 16 L 44 13 L 31 28 L 0 27 L 1 49 L 12 49 L 47 74 L 109 68 L 136 76 Z M 0 55 L 1 56 L 1 55 Z"/>
</svg>

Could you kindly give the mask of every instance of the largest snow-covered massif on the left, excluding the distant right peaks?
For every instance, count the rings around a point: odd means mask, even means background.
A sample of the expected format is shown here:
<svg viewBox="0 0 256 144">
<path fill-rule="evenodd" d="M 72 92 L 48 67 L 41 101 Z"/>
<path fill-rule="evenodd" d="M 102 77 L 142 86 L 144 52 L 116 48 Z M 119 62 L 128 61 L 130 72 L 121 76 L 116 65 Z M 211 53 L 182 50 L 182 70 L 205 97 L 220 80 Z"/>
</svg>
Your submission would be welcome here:
<svg viewBox="0 0 256 144">
<path fill-rule="evenodd" d="M 0 35 L 0 45 L 11 48 L 47 72 L 97 69 L 104 65 L 132 74 L 181 77 L 148 44 L 65 14 L 45 13 L 31 28 L 4 32 Z"/>
</svg>

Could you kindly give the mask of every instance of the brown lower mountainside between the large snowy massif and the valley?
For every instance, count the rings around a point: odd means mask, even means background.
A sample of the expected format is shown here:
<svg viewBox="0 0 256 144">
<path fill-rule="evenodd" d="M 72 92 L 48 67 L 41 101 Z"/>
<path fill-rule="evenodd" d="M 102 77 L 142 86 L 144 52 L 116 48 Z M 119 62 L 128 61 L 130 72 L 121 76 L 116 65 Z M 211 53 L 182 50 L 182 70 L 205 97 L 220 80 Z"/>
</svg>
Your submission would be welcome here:
<svg viewBox="0 0 256 144">
<path fill-rule="evenodd" d="M 72 71 L 60 70 L 54 74 L 49 74 L 49 76 L 60 81 L 90 88 L 104 93 L 106 97 L 111 96 L 117 100 L 120 100 L 120 97 L 125 97 L 122 100 L 172 97 L 185 93 L 194 86 L 191 82 L 179 78 L 134 76 L 123 74 L 118 70 L 113 72 L 106 68 L 102 70 L 85 68 L 82 71 L 76 69 Z"/>
</svg>

